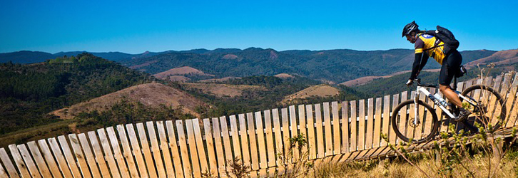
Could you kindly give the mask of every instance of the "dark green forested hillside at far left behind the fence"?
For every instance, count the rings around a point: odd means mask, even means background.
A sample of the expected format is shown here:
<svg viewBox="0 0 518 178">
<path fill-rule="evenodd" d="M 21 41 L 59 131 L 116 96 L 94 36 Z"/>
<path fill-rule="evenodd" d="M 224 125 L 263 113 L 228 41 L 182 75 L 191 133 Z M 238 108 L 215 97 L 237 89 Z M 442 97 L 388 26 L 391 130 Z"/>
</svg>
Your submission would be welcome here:
<svg viewBox="0 0 518 178">
<path fill-rule="evenodd" d="M 56 122 L 47 113 L 155 80 L 89 53 L 44 63 L 0 64 L 0 135 Z"/>
</svg>

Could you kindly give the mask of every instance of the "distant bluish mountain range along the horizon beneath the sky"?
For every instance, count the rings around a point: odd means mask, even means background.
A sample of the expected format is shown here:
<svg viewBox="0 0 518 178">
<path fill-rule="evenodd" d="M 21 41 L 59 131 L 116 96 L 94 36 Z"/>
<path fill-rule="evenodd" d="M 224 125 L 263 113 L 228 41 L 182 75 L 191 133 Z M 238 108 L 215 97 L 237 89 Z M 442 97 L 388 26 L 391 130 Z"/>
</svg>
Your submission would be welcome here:
<svg viewBox="0 0 518 178">
<path fill-rule="evenodd" d="M 44 53 L 19 51 L 0 53 L 0 63 L 39 63 L 59 56 L 76 56 L 84 51 Z M 497 51 L 462 51 L 463 63 L 491 56 Z M 386 51 L 355 51 L 349 49 L 309 51 L 275 51 L 271 48 L 218 48 L 189 51 L 163 51 L 158 53 L 128 54 L 120 52 L 92 53 L 95 56 L 116 61 L 150 74 L 162 73 L 173 68 L 191 67 L 214 78 L 245 77 L 250 75 L 276 75 L 288 73 L 315 80 L 342 83 L 369 75 L 388 75 L 409 70 L 413 62 L 413 50 L 392 49 Z M 430 62 L 426 68 L 440 68 Z M 199 80 L 207 78 L 198 78 Z"/>
</svg>

